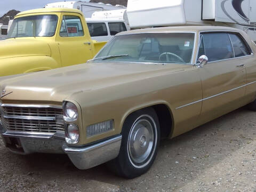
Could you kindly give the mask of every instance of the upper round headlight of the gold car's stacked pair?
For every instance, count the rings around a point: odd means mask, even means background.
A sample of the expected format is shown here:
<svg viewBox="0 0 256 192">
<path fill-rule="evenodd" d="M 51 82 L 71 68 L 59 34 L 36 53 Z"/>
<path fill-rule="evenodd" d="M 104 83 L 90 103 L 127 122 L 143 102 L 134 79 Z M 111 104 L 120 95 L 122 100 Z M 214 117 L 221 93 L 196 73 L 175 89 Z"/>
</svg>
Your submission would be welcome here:
<svg viewBox="0 0 256 192">
<path fill-rule="evenodd" d="M 67 101 L 63 112 L 63 118 L 66 122 L 74 122 L 77 120 L 78 111 L 74 103 Z"/>
</svg>

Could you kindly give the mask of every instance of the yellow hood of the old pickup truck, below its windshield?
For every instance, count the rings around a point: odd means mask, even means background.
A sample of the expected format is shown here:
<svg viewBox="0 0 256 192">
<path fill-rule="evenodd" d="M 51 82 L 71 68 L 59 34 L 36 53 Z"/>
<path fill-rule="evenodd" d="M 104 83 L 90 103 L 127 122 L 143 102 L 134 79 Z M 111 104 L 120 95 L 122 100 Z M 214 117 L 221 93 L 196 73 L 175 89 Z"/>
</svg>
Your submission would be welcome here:
<svg viewBox="0 0 256 192">
<path fill-rule="evenodd" d="M 10 38 L 0 41 L 0 59 L 47 55 L 51 56 L 49 45 L 38 39 Z"/>
</svg>

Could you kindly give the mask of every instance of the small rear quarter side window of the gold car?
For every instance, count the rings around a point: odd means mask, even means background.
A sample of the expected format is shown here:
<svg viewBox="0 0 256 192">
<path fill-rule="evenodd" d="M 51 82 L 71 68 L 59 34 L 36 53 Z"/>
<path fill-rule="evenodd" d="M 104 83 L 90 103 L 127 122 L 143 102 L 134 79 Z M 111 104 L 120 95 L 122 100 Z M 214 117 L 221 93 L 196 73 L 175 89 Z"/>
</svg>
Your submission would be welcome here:
<svg viewBox="0 0 256 192">
<path fill-rule="evenodd" d="M 241 37 L 235 34 L 229 34 L 229 36 L 231 42 L 233 43 L 235 57 L 242 57 L 250 54 L 249 50 L 247 49 L 248 46 L 244 44 Z"/>
</svg>

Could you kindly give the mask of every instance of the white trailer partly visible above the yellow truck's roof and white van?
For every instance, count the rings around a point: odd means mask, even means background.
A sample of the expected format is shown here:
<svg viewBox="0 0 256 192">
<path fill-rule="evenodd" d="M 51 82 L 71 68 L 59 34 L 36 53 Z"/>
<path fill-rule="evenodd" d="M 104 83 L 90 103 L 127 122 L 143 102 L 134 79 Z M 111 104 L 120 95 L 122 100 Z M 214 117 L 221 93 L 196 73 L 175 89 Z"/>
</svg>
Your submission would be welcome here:
<svg viewBox="0 0 256 192">
<path fill-rule="evenodd" d="M 90 3 L 90 0 L 49 3 L 49 4 L 45 5 L 45 8 L 78 9 L 84 13 L 85 18 L 91 18 L 92 14 L 95 11 L 109 11 L 109 10 L 126 9 L 126 7 L 122 6 L 122 5 L 114 6 L 114 5 L 110 5 L 110 4 L 104 4 L 104 3 Z"/>
</svg>

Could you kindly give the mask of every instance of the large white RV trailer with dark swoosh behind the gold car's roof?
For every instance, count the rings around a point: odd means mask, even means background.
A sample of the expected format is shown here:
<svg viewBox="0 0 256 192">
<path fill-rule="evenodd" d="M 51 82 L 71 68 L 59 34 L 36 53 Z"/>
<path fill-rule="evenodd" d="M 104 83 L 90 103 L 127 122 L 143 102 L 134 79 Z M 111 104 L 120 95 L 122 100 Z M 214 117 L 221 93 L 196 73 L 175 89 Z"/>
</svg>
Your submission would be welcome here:
<svg viewBox="0 0 256 192">
<path fill-rule="evenodd" d="M 256 0 L 128 0 L 127 15 L 131 28 L 229 26 L 256 41 Z"/>
</svg>

